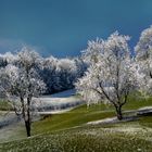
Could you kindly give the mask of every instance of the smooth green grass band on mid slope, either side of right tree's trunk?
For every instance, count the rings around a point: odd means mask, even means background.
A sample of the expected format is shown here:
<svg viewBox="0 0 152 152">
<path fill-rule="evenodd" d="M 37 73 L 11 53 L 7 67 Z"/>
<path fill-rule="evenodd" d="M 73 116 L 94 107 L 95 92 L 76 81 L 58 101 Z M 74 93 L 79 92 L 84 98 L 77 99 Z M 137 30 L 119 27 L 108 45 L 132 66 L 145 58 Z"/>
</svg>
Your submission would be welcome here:
<svg viewBox="0 0 152 152">
<path fill-rule="evenodd" d="M 129 102 L 123 107 L 125 110 L 137 110 L 142 106 L 152 105 L 152 99 L 134 99 L 129 98 Z M 48 118 L 36 122 L 33 125 L 33 134 L 43 134 L 60 129 L 66 129 L 75 126 L 80 126 L 87 122 L 98 121 L 106 117 L 115 116 L 113 106 L 105 106 L 104 104 L 91 105 L 87 109 L 86 105 L 79 106 L 71 112 L 52 115 Z"/>
</svg>

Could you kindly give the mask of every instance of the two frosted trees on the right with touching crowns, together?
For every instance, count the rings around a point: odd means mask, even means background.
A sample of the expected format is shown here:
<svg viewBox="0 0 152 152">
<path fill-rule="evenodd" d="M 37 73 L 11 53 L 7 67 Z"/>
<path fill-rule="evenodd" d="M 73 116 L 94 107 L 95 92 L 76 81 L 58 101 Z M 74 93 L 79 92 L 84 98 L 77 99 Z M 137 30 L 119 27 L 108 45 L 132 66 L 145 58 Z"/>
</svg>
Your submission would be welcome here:
<svg viewBox="0 0 152 152">
<path fill-rule="evenodd" d="M 89 67 L 76 88 L 88 105 L 110 103 L 115 107 L 118 119 L 123 118 L 122 106 L 130 92 L 152 92 L 152 27 L 141 33 L 131 56 L 128 36 L 112 34 L 106 40 L 89 41 L 83 51 Z"/>
</svg>

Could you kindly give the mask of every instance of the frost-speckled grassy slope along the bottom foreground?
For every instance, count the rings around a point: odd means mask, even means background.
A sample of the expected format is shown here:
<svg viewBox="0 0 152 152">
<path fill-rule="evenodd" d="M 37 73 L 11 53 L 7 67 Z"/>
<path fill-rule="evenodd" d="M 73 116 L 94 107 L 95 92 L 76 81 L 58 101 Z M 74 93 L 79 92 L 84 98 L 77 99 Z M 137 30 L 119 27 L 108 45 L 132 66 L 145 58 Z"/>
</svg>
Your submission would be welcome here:
<svg viewBox="0 0 152 152">
<path fill-rule="evenodd" d="M 152 122 L 152 118 L 145 117 L 145 123 L 141 121 L 144 127 L 137 122 L 113 126 L 84 126 L 0 144 L 0 150 L 17 152 L 151 152 L 152 131 L 145 127 L 147 118 Z M 129 130 L 122 131 L 122 128 L 126 130 L 129 128 Z M 130 131 L 132 129 L 135 129 L 134 132 Z"/>
</svg>

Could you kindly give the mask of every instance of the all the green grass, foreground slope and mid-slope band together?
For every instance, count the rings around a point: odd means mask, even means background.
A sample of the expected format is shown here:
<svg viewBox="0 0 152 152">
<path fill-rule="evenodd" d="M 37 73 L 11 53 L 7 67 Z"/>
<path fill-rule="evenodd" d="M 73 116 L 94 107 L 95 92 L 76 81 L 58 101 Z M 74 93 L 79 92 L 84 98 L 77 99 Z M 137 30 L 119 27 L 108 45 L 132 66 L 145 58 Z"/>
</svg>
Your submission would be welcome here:
<svg viewBox="0 0 152 152">
<path fill-rule="evenodd" d="M 134 102 L 131 102 L 134 101 Z M 147 101 L 130 98 L 124 110 L 136 110 L 152 105 L 152 100 Z M 60 115 L 52 115 L 33 125 L 33 134 L 41 134 L 30 139 L 12 141 L 0 144 L 1 151 L 76 151 L 76 152 L 129 152 L 152 150 L 152 117 L 141 117 L 138 122 L 121 123 L 104 126 L 81 126 L 90 121 L 114 116 L 113 107 L 105 105 L 86 105 Z M 117 129 L 118 128 L 118 129 Z M 121 131 L 129 128 L 128 131 Z M 130 130 L 134 130 L 130 134 Z M 139 129 L 139 132 L 138 132 Z"/>
</svg>

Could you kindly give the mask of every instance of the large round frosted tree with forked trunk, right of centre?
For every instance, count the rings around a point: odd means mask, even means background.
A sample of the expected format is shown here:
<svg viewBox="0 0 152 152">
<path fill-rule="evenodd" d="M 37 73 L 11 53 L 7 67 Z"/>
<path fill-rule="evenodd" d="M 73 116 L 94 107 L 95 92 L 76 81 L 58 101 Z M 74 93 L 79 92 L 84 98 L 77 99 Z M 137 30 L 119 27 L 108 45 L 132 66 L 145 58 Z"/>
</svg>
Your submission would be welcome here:
<svg viewBox="0 0 152 152">
<path fill-rule="evenodd" d="M 127 102 L 136 86 L 136 67 L 131 64 L 128 36 L 112 34 L 107 40 L 98 40 L 89 45 L 91 52 L 98 52 L 85 76 L 76 83 L 76 88 L 88 104 L 100 101 L 115 107 L 117 118 L 122 119 L 122 106 Z M 100 43 L 99 43 L 100 41 Z M 96 49 L 97 47 L 97 49 Z M 92 48 L 92 50 L 91 50 Z"/>
</svg>

